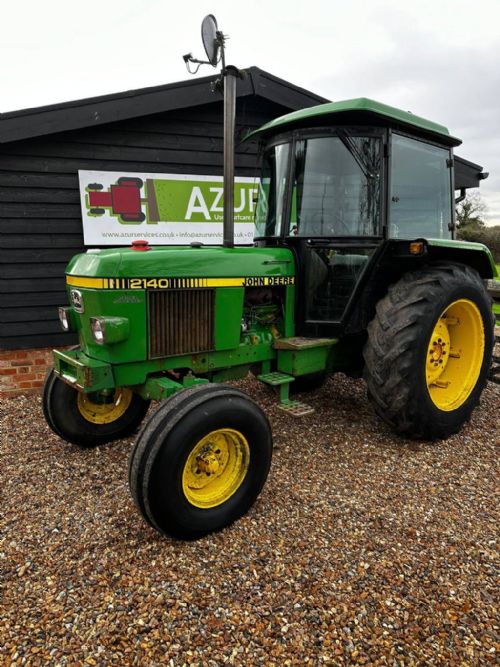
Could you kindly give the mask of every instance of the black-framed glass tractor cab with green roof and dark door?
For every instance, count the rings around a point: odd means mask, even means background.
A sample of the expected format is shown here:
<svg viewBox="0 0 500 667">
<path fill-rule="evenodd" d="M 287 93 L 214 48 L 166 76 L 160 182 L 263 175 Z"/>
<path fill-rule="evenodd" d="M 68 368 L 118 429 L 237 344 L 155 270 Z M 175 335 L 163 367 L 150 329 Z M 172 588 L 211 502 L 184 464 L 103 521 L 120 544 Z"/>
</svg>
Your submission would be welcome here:
<svg viewBox="0 0 500 667">
<path fill-rule="evenodd" d="M 361 98 L 288 114 L 251 136 L 263 146 L 256 242 L 295 254 L 299 333 L 364 328 L 356 294 L 370 268 L 385 257 L 389 275 L 427 252 L 415 246 L 412 256 L 409 241 L 453 239 L 461 141 L 446 127 Z"/>
</svg>

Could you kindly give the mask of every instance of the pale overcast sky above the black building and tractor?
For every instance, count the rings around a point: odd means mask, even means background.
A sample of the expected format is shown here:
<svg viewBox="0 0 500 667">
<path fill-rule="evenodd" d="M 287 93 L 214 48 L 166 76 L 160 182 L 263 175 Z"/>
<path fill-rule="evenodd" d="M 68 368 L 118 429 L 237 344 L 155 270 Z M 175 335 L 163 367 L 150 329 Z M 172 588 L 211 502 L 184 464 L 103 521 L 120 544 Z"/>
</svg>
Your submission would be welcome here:
<svg viewBox="0 0 500 667">
<path fill-rule="evenodd" d="M 239 67 L 448 126 L 463 139 L 457 153 L 490 172 L 481 194 L 489 222 L 500 224 L 500 0 L 5 3 L 0 111 L 189 78 L 181 56 L 202 56 L 207 13 L 229 34 L 228 60 Z"/>
</svg>

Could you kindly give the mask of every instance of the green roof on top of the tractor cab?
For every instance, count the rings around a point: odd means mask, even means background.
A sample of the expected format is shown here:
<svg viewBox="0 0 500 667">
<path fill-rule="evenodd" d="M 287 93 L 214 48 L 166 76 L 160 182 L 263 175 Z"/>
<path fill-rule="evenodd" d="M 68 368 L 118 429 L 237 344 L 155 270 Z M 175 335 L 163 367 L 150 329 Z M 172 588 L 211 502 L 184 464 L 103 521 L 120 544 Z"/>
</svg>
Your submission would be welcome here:
<svg viewBox="0 0 500 667">
<path fill-rule="evenodd" d="M 331 121 L 339 123 L 359 123 L 361 121 L 371 124 L 374 120 L 378 120 L 379 124 L 382 121 L 383 125 L 406 128 L 414 132 L 417 130 L 418 134 L 433 137 L 448 146 L 458 146 L 462 143 L 460 139 L 453 137 L 444 125 L 416 116 L 411 111 L 403 111 L 367 97 L 357 97 L 341 102 L 328 102 L 308 109 L 293 111 L 262 125 L 262 127 L 250 133 L 247 138 L 264 137 L 271 133 L 275 134 L 296 127 L 321 125 L 328 117 L 331 118 Z"/>
</svg>

